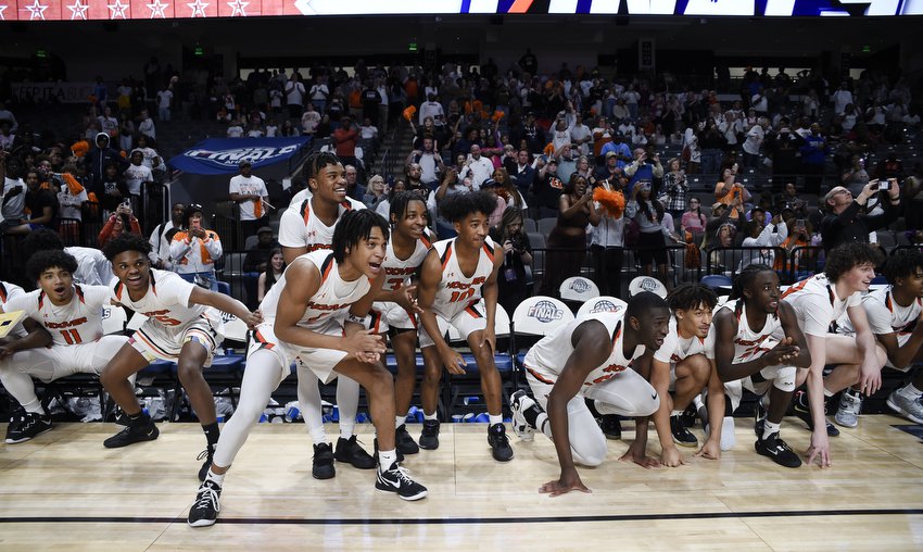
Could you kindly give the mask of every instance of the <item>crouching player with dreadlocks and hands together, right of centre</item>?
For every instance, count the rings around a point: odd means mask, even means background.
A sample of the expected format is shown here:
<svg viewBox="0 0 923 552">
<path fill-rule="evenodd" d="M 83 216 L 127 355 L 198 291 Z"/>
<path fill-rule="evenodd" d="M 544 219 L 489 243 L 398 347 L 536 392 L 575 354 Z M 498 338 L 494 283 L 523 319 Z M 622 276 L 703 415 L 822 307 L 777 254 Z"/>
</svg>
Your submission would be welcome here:
<svg viewBox="0 0 923 552">
<path fill-rule="evenodd" d="M 779 296 L 779 276 L 769 266 L 750 264 L 737 274 L 728 302 L 715 314 L 715 362 L 721 381 L 741 379 L 760 401 L 769 394 L 769 412 L 758 415 L 754 428 L 757 453 L 781 466 L 798 467 L 801 459 L 779 430 L 795 392 L 796 368 L 810 365 L 811 356 L 794 309 Z M 774 333 L 779 340 L 772 338 Z M 732 410 L 739 398 L 736 403 Z"/>
</svg>

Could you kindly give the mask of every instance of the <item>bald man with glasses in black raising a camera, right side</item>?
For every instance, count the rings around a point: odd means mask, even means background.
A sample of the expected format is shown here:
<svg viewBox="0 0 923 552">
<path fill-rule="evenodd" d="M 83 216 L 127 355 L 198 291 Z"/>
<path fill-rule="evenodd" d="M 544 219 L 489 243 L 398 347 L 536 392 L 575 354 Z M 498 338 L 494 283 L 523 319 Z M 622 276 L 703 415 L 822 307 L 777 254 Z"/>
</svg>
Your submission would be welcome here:
<svg viewBox="0 0 923 552">
<path fill-rule="evenodd" d="M 881 214 L 870 215 L 869 200 L 880 195 Z M 897 179 L 871 180 L 852 198 L 843 186 L 837 186 L 824 196 L 827 215 L 821 222 L 821 239 L 824 251 L 850 241 L 869 242 L 869 233 L 886 228 L 900 215 L 900 188 Z"/>
</svg>

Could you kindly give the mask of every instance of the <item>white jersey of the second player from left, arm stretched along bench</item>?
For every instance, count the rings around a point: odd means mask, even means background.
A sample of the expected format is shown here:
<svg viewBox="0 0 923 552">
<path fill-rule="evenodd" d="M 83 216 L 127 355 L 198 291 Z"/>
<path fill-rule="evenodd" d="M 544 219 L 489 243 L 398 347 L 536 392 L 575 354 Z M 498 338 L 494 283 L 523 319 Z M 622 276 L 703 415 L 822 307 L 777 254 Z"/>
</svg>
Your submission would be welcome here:
<svg viewBox="0 0 923 552">
<path fill-rule="evenodd" d="M 176 273 L 151 268 L 151 281 L 148 292 L 138 301 L 132 301 L 128 289 L 121 280 L 112 284 L 113 301 L 124 304 L 148 317 L 149 322 L 166 328 L 176 328 L 189 322 L 206 318 L 213 327 L 224 327 L 222 313 L 211 306 L 189 304 L 189 297 L 195 285 L 180 278 Z"/>
</svg>

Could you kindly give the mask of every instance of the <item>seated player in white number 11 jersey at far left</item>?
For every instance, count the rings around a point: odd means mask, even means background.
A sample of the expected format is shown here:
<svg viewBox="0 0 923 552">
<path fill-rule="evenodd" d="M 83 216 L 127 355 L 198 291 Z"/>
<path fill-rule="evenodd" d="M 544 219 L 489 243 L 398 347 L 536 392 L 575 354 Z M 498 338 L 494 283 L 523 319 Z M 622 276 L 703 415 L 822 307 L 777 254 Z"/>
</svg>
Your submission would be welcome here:
<svg viewBox="0 0 923 552">
<path fill-rule="evenodd" d="M 51 416 L 35 394 L 33 377 L 48 384 L 77 373 L 99 374 L 128 340 L 103 336 L 102 306 L 110 302 L 109 288 L 74 284 L 76 271 L 77 260 L 64 251 L 39 251 L 26 263 L 26 273 L 39 289 L 16 293 L 2 305 L 3 312 L 24 311 L 35 326 L 45 329 L 33 328 L 0 353 L 0 381 L 25 410 L 7 428 L 8 443 L 51 430 Z"/>
</svg>

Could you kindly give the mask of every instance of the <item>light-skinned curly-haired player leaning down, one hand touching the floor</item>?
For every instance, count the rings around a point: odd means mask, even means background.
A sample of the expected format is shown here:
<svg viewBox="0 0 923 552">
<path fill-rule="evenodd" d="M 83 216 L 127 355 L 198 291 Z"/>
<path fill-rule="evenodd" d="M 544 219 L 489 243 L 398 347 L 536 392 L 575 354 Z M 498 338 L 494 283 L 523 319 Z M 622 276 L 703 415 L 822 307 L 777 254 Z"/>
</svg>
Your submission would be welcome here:
<svg viewBox="0 0 923 552">
<path fill-rule="evenodd" d="M 830 465 L 824 403 L 833 392 L 824 387 L 824 365 L 859 366 L 859 391 L 862 393 L 872 394 L 882 387 L 882 366 L 887 362 L 887 354 L 875 347 L 875 335 L 861 304 L 862 293 L 869 290 L 881 260 L 881 254 L 868 243 L 843 243 L 827 254 L 824 274 L 801 280 L 782 294 L 783 301 L 795 309 L 811 353 L 810 369 L 798 371 L 797 377 L 798 386 L 808 382 L 808 400 L 805 401 L 806 393 L 799 393 L 795 401 L 795 414 L 812 431 L 808 463 L 819 456 L 822 467 Z M 844 314 L 852 324 L 855 337 L 830 333 L 830 325 Z"/>
</svg>

